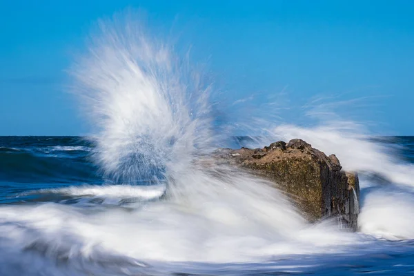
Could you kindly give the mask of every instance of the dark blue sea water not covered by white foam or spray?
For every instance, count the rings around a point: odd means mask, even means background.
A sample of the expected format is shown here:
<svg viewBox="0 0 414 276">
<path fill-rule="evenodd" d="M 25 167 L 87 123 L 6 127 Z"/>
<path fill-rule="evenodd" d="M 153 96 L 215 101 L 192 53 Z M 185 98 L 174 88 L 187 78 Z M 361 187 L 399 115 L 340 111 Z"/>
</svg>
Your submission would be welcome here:
<svg viewBox="0 0 414 276">
<path fill-rule="evenodd" d="M 373 140 L 396 149 L 398 158 L 402 162 L 414 164 L 414 137 L 380 137 Z M 237 137 L 232 143 L 233 146 L 238 147 L 250 142 L 250 139 Z M 54 204 L 57 210 L 60 205 L 73 205 L 79 214 L 86 214 L 86 217 L 89 212 L 104 212 L 102 208 L 93 210 L 88 208 L 92 204 L 116 210 L 121 208 L 122 212 L 130 212 L 128 199 L 137 196 L 128 195 L 128 191 L 120 193 L 119 190 L 111 190 L 109 193 L 117 194 L 114 201 L 105 201 L 106 195 L 96 195 L 93 194 L 94 191 L 90 192 L 92 196 L 88 195 L 88 192 L 79 195 L 50 192 L 61 188 L 114 186 L 115 183 L 103 177 L 99 168 L 93 163 L 94 152 L 94 144 L 83 137 L 0 137 L 0 211 L 3 212 L 0 217 L 0 231 L 3 231 L 0 233 L 0 258 L 3 259 L 0 261 L 0 275 L 412 275 L 414 273 L 414 240 L 409 239 L 387 241 L 373 237 L 372 249 L 366 248 L 366 244 L 361 246 L 356 244 L 353 245 L 352 250 L 345 250 L 340 254 L 286 255 L 275 257 L 268 262 L 230 264 L 160 262 L 160 264 L 144 265 L 136 264 L 129 257 L 121 257 L 115 253 L 115 255 L 96 253 L 90 255 L 89 259 L 79 261 L 76 249 L 79 241 L 64 232 L 58 237 L 50 236 L 46 244 L 44 239 L 41 239 L 41 243 L 37 243 L 36 231 L 41 229 L 40 226 L 32 226 L 27 218 L 24 222 L 19 222 L 19 219 L 13 220 L 13 216 L 19 212 L 34 210 L 33 225 L 39 224 L 43 227 L 41 213 L 43 210 L 49 210 L 44 206 L 50 204 Z M 42 190 L 49 192 L 37 193 Z M 384 202 L 384 204 L 388 203 Z M 15 211 L 14 208 L 17 206 L 19 210 Z M 59 216 L 61 215 L 57 215 Z M 46 229 L 53 228 L 54 224 L 48 219 L 44 223 Z M 83 223 L 84 221 L 79 221 L 79 225 Z M 150 223 L 151 220 L 148 219 L 148 224 Z M 114 225 L 116 224 L 114 222 Z M 7 229 L 14 229 L 15 235 L 29 233 L 27 237 L 31 237 L 30 241 L 27 242 L 26 237 L 11 238 L 14 230 L 6 233 Z M 24 231 L 21 232 L 21 229 Z M 79 226 L 79 229 L 82 228 Z M 123 233 L 121 229 L 120 233 Z M 65 240 L 66 246 L 63 247 L 69 248 L 68 250 L 59 247 L 62 239 Z M 21 242 L 10 242 L 15 240 Z M 217 250 L 219 251 L 220 248 Z M 71 261 L 72 259 L 77 261 Z"/>
</svg>

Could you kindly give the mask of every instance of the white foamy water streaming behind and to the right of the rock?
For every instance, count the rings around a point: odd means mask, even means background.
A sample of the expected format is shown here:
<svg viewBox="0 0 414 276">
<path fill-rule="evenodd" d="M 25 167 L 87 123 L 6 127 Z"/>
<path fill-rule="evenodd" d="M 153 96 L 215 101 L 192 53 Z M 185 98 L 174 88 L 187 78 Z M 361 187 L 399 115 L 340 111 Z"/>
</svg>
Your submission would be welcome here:
<svg viewBox="0 0 414 276">
<path fill-rule="evenodd" d="M 362 135 L 360 126 L 338 121 L 316 128 L 278 126 L 273 133 L 285 140 L 301 137 L 327 155 L 335 153 L 345 170 L 363 173 L 360 186 L 364 201 L 358 221 L 363 233 L 384 239 L 414 239 L 410 219 L 414 215 L 414 166 L 396 160 L 392 148 Z M 369 180 L 364 173 L 381 175 L 385 181 Z"/>
</svg>

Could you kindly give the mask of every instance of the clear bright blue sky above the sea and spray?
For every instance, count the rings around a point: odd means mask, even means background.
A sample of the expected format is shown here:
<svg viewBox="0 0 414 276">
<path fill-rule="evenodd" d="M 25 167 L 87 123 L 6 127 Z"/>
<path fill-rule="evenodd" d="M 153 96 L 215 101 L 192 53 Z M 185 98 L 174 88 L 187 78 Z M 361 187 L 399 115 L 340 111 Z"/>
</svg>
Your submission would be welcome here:
<svg viewBox="0 0 414 276">
<path fill-rule="evenodd" d="M 128 7 L 191 44 L 229 102 L 254 95 L 259 105 L 284 92 L 288 107 L 339 95 L 359 100 L 337 111 L 375 132 L 414 135 L 408 0 L 0 0 L 0 135 L 87 134 L 65 70 L 92 23 Z M 305 123 L 298 114 L 284 120 Z"/>
</svg>

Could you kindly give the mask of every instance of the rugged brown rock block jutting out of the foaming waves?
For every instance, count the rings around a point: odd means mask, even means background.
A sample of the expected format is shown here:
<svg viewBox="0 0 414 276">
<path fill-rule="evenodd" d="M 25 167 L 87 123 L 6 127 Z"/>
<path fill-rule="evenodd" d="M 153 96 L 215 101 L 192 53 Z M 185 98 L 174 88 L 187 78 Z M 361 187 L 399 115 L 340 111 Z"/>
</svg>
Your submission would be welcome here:
<svg viewBox="0 0 414 276">
<path fill-rule="evenodd" d="M 359 182 L 344 172 L 335 155 L 327 157 L 301 139 L 257 149 L 222 149 L 219 159 L 270 179 L 292 198 L 310 221 L 337 217 L 357 229 Z"/>
</svg>

